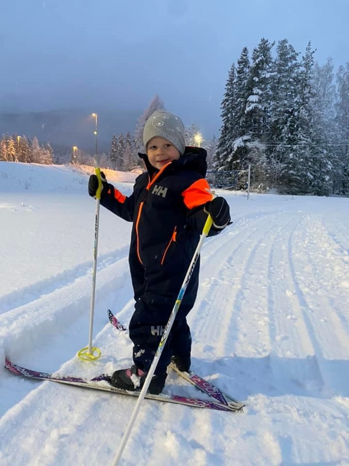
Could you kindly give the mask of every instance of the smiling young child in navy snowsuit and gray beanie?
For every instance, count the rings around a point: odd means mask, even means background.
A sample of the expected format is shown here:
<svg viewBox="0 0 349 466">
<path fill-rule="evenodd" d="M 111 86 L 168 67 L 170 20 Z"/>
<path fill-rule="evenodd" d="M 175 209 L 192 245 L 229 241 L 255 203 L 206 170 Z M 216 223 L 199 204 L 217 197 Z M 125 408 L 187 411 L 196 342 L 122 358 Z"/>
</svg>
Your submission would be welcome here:
<svg viewBox="0 0 349 466">
<path fill-rule="evenodd" d="M 134 343 L 134 365 L 116 370 L 111 379 L 112 385 L 127 390 L 139 389 L 144 383 L 208 213 L 213 219 L 209 236 L 230 221 L 228 203 L 221 197 L 213 199 L 205 179 L 206 151 L 185 147 L 179 117 L 156 110 L 144 127 L 143 143 L 146 153 L 139 156 L 147 172 L 136 178 L 131 196 L 121 194 L 101 173 L 101 205 L 133 222 L 129 265 L 135 305 L 129 336 Z M 97 187 L 98 179 L 91 175 L 90 196 L 95 197 Z M 186 316 L 194 306 L 199 267 L 198 260 L 149 385 L 150 393 L 162 391 L 171 357 L 179 370 L 190 368 Z"/>
</svg>

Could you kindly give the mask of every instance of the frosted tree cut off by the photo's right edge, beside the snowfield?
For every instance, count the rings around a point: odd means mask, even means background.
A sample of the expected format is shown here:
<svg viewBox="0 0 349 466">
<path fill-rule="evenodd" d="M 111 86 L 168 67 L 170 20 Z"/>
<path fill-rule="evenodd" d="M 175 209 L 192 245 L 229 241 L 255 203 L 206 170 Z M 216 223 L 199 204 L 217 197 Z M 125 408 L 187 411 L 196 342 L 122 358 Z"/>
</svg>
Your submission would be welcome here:
<svg viewBox="0 0 349 466">
<path fill-rule="evenodd" d="M 336 179 L 336 191 L 349 195 L 349 62 L 339 67 L 336 79 L 335 121 L 338 135 L 336 153 L 340 167 Z"/>
</svg>

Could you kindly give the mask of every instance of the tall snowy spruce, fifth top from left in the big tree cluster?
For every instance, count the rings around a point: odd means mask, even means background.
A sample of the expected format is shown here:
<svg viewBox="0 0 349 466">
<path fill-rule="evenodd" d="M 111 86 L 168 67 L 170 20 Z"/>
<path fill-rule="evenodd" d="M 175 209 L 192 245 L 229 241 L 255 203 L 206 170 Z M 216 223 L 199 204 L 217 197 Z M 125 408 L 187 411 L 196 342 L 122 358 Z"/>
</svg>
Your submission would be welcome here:
<svg viewBox="0 0 349 466">
<path fill-rule="evenodd" d="M 311 185 L 314 180 L 312 167 L 312 134 L 311 120 L 313 97 L 312 82 L 314 72 L 314 53 L 308 43 L 302 57 L 301 67 L 297 76 L 297 98 L 295 118 L 292 119 L 292 133 L 295 142 L 289 148 L 281 171 L 283 192 L 291 194 L 306 194 L 312 192 Z"/>
</svg>

